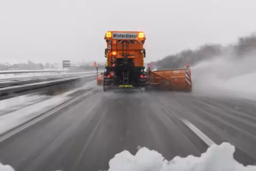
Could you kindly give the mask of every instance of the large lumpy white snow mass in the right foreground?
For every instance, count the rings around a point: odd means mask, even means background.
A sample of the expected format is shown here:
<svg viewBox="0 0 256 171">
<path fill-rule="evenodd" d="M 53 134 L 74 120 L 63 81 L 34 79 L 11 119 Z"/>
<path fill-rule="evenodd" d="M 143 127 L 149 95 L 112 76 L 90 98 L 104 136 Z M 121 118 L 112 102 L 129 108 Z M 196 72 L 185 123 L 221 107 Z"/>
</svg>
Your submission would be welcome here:
<svg viewBox="0 0 256 171">
<path fill-rule="evenodd" d="M 175 157 L 170 161 L 154 150 L 141 148 L 131 155 L 122 151 L 109 161 L 108 171 L 255 171 L 256 166 L 243 166 L 233 158 L 235 147 L 229 143 L 213 145 L 200 157 Z"/>
</svg>

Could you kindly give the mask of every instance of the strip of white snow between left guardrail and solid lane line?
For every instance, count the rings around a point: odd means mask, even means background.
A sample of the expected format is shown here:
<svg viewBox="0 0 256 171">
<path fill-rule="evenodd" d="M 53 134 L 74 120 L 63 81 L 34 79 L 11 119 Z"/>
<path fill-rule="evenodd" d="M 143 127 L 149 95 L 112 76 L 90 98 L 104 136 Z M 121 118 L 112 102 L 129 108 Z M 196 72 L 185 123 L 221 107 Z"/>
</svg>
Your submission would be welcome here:
<svg viewBox="0 0 256 171">
<path fill-rule="evenodd" d="M 52 109 L 53 107 L 71 99 L 72 97 L 69 97 L 69 95 L 71 95 L 75 91 L 94 87 L 95 84 L 96 84 L 96 81 L 91 81 L 85 84 L 85 86 L 81 88 L 76 88 L 76 89 L 61 93 L 61 95 L 57 95 L 53 98 L 40 101 L 36 104 L 32 104 L 27 107 L 23 107 L 19 110 L 8 113 L 6 115 L 0 115 L 0 135 L 5 133 L 8 130 L 13 129 L 14 127 L 22 123 L 29 121 L 30 119 L 42 113 L 47 112 L 49 109 Z"/>
</svg>

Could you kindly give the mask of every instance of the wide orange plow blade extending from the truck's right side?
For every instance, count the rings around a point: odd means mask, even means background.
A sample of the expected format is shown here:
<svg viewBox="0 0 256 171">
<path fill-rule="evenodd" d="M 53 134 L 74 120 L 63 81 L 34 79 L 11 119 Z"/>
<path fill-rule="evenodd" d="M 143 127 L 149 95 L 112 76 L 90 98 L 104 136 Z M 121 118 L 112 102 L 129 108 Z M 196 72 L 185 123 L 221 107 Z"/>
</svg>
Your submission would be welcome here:
<svg viewBox="0 0 256 171">
<path fill-rule="evenodd" d="M 177 69 L 148 71 L 149 89 L 170 91 L 192 91 L 190 70 Z"/>
</svg>

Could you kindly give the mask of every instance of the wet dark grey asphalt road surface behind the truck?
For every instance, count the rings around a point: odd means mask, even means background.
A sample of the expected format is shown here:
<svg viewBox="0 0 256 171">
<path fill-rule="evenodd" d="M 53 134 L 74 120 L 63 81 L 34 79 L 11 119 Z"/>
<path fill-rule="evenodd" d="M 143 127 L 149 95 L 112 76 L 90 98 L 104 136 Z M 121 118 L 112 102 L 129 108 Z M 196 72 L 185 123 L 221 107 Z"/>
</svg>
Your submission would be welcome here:
<svg viewBox="0 0 256 171">
<path fill-rule="evenodd" d="M 208 146 L 181 121 L 187 119 L 215 143 L 235 145 L 240 163 L 256 163 L 254 101 L 100 89 L 0 142 L 0 162 L 16 171 L 107 170 L 116 153 L 134 155 L 138 146 L 168 160 L 200 156 Z"/>
</svg>

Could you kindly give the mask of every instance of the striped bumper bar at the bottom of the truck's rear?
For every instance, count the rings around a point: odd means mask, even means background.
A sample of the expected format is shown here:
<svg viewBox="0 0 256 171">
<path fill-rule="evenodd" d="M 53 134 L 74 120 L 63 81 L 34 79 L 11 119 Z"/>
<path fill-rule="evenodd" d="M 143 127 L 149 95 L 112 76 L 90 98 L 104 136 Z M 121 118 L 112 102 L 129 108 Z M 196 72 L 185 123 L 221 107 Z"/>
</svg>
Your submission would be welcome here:
<svg viewBox="0 0 256 171">
<path fill-rule="evenodd" d="M 126 92 L 126 93 L 132 93 L 132 92 L 144 92 L 147 90 L 146 86 L 143 87 L 134 87 L 132 85 L 119 85 L 119 86 L 104 86 L 104 91 L 106 92 Z"/>
</svg>

